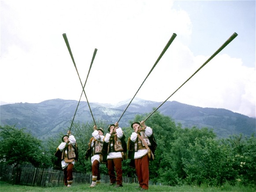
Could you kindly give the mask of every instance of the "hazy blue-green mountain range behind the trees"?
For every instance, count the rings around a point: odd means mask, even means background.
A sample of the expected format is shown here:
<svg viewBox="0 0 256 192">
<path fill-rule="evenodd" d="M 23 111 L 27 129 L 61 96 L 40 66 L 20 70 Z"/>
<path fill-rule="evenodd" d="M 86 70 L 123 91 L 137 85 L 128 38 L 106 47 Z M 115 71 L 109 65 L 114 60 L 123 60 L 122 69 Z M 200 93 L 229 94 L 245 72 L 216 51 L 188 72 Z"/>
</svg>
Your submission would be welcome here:
<svg viewBox="0 0 256 192">
<path fill-rule="evenodd" d="M 90 103 L 94 119 L 104 120 L 109 124 L 119 120 L 130 100 L 115 105 L 105 103 Z M 129 122 L 136 114 L 151 113 L 162 102 L 134 98 L 119 121 L 121 127 L 130 126 Z M 0 125 L 15 125 L 26 128 L 35 137 L 44 139 L 56 135 L 63 128 L 70 127 L 74 112 L 78 105 L 76 100 L 53 99 L 41 103 L 13 103 L 0 106 Z M 177 101 L 165 102 L 158 111 L 171 117 L 182 127 L 208 127 L 213 129 L 218 137 L 229 137 L 232 134 L 255 135 L 256 119 L 226 109 L 196 107 Z M 87 102 L 79 103 L 74 121 L 92 122 Z"/>
</svg>

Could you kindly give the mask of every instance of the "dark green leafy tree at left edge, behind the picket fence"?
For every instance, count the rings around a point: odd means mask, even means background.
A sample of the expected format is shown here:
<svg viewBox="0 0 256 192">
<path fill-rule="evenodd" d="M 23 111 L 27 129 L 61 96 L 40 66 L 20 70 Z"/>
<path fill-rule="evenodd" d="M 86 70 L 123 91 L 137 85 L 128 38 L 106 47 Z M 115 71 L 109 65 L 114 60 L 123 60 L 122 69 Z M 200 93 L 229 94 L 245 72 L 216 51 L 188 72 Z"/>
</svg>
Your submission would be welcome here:
<svg viewBox="0 0 256 192">
<path fill-rule="evenodd" d="M 40 167 L 47 160 L 41 148 L 41 140 L 25 130 L 15 126 L 0 126 L 0 159 L 9 165 L 31 163 Z"/>
</svg>

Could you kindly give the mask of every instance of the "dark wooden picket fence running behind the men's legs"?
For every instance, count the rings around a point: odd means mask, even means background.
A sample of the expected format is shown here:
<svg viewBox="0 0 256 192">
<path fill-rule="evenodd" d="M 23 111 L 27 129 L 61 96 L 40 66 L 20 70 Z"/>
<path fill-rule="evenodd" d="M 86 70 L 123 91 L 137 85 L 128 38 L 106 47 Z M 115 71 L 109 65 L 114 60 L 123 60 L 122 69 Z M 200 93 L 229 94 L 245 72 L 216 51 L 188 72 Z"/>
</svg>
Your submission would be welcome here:
<svg viewBox="0 0 256 192">
<path fill-rule="evenodd" d="M 52 168 L 35 168 L 21 166 L 19 168 L 0 164 L 0 181 L 8 181 L 18 185 L 38 187 L 61 187 L 63 183 L 63 171 Z M 109 183 L 109 176 L 101 174 L 101 183 Z M 73 172 L 73 184 L 91 184 L 92 174 Z M 137 183 L 137 177 L 122 177 L 123 183 Z"/>
</svg>

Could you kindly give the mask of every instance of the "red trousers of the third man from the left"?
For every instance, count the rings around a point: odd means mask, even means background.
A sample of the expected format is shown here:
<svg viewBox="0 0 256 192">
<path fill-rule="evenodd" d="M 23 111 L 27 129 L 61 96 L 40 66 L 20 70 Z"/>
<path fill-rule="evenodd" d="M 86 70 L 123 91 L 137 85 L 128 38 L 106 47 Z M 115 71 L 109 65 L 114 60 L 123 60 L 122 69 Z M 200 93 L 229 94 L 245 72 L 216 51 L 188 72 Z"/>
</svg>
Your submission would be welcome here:
<svg viewBox="0 0 256 192">
<path fill-rule="evenodd" d="M 108 175 L 110 183 L 122 185 L 122 158 L 108 159 Z"/>
</svg>

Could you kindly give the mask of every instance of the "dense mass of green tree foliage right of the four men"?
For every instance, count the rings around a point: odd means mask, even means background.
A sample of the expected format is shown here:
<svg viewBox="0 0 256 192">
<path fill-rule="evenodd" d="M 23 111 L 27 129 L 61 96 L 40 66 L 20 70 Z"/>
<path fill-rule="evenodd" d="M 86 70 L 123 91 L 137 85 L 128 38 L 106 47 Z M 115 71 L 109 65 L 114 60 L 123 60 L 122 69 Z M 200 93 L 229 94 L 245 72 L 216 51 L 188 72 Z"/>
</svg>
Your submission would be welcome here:
<svg viewBox="0 0 256 192">
<path fill-rule="evenodd" d="M 136 121 L 147 117 L 136 116 Z M 241 135 L 218 139 L 212 129 L 182 129 L 159 112 L 146 122 L 154 130 L 158 147 L 150 162 L 150 180 L 166 185 L 223 185 L 255 183 L 256 139 Z"/>
</svg>

